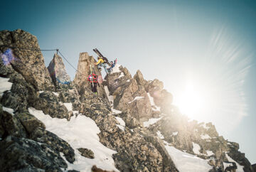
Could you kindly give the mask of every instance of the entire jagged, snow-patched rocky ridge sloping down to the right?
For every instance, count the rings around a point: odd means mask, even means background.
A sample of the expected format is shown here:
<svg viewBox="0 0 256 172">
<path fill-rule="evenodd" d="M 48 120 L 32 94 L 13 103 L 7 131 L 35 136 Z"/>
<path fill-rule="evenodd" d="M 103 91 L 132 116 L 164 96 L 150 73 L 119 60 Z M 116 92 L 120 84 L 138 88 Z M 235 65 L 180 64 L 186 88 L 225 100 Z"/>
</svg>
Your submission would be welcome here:
<svg viewBox="0 0 256 172">
<path fill-rule="evenodd" d="M 14 47 L 40 48 L 26 31 L 0 32 L 1 171 L 254 171 L 239 145 L 219 136 L 213 124 L 178 112 L 163 82 L 144 80 L 139 70 L 132 77 L 117 65 L 95 95 L 86 77 L 95 59 L 88 53 L 80 53 L 72 82 L 57 54 L 46 68 L 40 51 Z M 114 152 L 111 159 L 99 158 L 97 146 L 78 144 L 92 127 L 75 130 L 80 140 L 73 144 L 45 117 L 66 122 L 68 130 L 75 119 L 90 121 L 99 144 Z M 79 168 L 81 161 L 86 168 Z"/>
</svg>

